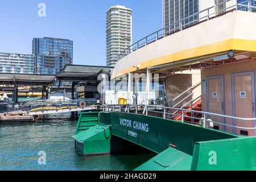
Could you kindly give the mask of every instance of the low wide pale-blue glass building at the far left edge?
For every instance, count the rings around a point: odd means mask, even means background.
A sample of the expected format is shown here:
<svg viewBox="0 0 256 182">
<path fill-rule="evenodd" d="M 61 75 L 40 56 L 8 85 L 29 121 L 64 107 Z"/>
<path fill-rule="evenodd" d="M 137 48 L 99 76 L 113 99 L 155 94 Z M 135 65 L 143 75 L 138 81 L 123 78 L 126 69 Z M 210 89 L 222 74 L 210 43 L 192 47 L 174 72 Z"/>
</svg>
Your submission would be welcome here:
<svg viewBox="0 0 256 182">
<path fill-rule="evenodd" d="M 0 52 L 0 73 L 34 73 L 34 55 Z"/>
</svg>

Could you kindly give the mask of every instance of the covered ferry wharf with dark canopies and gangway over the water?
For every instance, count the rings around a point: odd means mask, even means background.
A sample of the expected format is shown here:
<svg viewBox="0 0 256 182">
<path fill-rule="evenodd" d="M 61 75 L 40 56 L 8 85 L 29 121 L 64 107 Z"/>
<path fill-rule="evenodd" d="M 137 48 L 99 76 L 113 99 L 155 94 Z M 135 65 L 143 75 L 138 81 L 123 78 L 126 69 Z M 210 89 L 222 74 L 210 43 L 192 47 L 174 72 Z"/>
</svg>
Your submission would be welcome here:
<svg viewBox="0 0 256 182">
<path fill-rule="evenodd" d="M 79 111 L 99 110 L 100 105 L 96 103 L 96 98 L 78 98 L 76 87 L 81 85 L 97 85 L 101 80 L 98 76 L 101 73 L 109 75 L 113 68 L 110 67 L 94 67 L 86 65 L 65 65 L 63 70 L 56 75 L 26 75 L 26 74 L 11 74 L 0 73 L 0 84 L 2 90 L 8 90 L 12 93 L 11 101 L 2 102 L 2 116 L 0 122 L 31 122 L 37 115 L 72 113 L 73 117 Z M 59 82 L 59 86 L 54 86 Z M 64 87 L 63 98 L 50 100 L 51 94 L 56 93 L 61 89 L 61 82 L 70 82 L 69 92 L 71 98 L 65 98 L 67 86 Z M 5 86 L 9 85 L 9 86 Z M 11 86 L 10 86 L 11 85 Z M 18 101 L 20 90 L 19 88 L 29 88 L 24 94 L 38 93 L 40 90 L 41 98 Z M 85 91 L 84 91 L 85 92 Z M 96 97 L 95 95 L 93 97 Z M 100 98 L 98 98 L 100 100 Z M 11 119 L 15 118 L 15 119 Z"/>
</svg>

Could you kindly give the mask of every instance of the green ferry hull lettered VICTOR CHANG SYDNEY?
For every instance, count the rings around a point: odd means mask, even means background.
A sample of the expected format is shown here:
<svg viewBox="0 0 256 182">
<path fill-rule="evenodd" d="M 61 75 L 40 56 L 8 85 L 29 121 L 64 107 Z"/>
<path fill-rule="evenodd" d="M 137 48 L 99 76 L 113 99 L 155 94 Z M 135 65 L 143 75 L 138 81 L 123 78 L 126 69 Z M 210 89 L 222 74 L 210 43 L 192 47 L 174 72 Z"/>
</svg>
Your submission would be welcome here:
<svg viewBox="0 0 256 182">
<path fill-rule="evenodd" d="M 256 170 L 256 137 L 139 114 L 102 112 L 92 115 L 80 115 L 83 122 L 78 123 L 73 136 L 77 150 L 84 155 L 130 150 L 118 146 L 119 139 L 156 153 L 154 158 L 135 169 L 139 171 Z M 96 125 L 82 130 L 85 121 L 92 117 Z"/>
</svg>

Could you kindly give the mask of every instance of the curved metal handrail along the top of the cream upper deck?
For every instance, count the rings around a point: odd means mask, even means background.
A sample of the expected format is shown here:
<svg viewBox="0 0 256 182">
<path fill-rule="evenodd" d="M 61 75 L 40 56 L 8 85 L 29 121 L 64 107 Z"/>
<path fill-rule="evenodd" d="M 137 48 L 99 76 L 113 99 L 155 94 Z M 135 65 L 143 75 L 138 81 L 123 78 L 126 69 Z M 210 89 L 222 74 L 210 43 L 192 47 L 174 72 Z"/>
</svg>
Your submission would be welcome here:
<svg viewBox="0 0 256 182">
<path fill-rule="evenodd" d="M 150 35 L 147 35 L 146 37 L 142 38 L 141 40 L 135 42 L 134 44 L 132 44 L 131 46 L 127 47 L 125 50 L 123 50 L 121 53 L 119 53 L 118 60 L 122 59 L 123 57 L 129 55 L 131 52 L 136 51 L 137 49 L 141 48 L 139 46 L 146 46 L 148 43 L 148 38 L 150 38 L 150 36 L 155 35 L 154 38 L 151 38 L 150 40 L 153 40 L 152 42 L 155 42 L 157 40 L 159 40 L 159 32 L 162 31 L 162 38 L 169 36 L 171 34 L 174 34 L 177 31 L 182 31 L 184 28 L 187 28 L 187 26 L 193 26 L 196 25 L 197 23 L 200 22 L 201 19 L 205 19 L 205 20 L 210 20 L 212 18 L 212 15 L 218 15 L 221 14 L 222 12 L 225 13 L 228 10 L 231 10 L 232 8 L 236 8 L 236 10 L 241 10 L 241 11 L 252 11 L 252 9 L 256 9 L 256 3 L 247 3 L 247 5 L 241 4 L 241 3 L 236 3 L 236 5 L 232 5 L 229 7 L 225 7 L 225 9 L 223 10 L 218 10 L 216 11 L 216 7 L 229 2 L 229 1 L 233 1 L 233 0 L 225 0 L 223 2 L 217 3 L 216 5 L 212 6 L 212 7 L 208 7 L 207 9 L 201 10 L 195 14 L 189 15 L 183 19 L 178 20 L 175 23 L 172 23 L 158 31 L 153 32 Z M 244 3 L 244 2 L 243 2 Z M 254 6 L 255 5 L 255 6 Z M 244 7 L 245 9 L 239 9 L 238 7 Z M 210 14 L 210 9 L 215 9 L 214 13 Z M 248 10 L 247 10 L 248 9 Z M 200 17 L 200 14 L 202 13 L 207 13 L 207 15 Z M 195 19 L 195 16 L 198 16 L 198 18 Z M 193 20 L 189 20 L 190 18 L 193 18 Z M 188 23 L 185 23 L 188 20 Z M 179 24 L 179 26 L 177 26 L 177 24 Z M 177 26 L 177 27 L 176 27 Z M 173 27 L 173 28 L 172 28 Z M 171 28 L 171 30 L 168 30 L 169 28 Z M 168 31 L 166 31 L 168 30 Z M 140 42 L 144 40 L 144 42 L 142 44 L 140 44 Z M 151 42 L 150 42 L 151 43 Z M 136 47 L 134 47 L 136 46 Z"/>
</svg>

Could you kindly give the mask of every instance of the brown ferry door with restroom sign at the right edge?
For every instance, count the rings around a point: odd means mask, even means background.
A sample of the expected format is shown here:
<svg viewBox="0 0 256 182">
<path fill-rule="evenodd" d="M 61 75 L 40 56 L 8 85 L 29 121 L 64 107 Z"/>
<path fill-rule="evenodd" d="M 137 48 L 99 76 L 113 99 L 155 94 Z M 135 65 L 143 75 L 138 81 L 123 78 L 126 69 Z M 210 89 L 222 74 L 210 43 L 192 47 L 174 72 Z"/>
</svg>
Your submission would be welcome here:
<svg viewBox="0 0 256 182">
<path fill-rule="evenodd" d="M 255 118 L 254 72 L 232 74 L 233 116 L 238 118 Z M 255 127 L 255 121 L 233 119 L 233 125 L 242 128 Z M 254 131 L 234 128 L 233 133 L 253 136 Z"/>
</svg>

